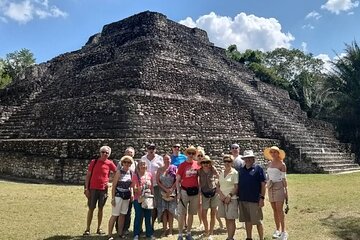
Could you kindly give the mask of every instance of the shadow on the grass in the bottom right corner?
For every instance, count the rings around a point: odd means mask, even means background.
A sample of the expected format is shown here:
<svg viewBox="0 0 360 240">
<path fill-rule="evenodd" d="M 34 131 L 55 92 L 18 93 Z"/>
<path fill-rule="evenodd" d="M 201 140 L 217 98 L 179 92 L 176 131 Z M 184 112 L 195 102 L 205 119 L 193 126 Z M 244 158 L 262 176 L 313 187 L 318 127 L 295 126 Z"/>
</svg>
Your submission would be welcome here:
<svg viewBox="0 0 360 240">
<path fill-rule="evenodd" d="M 336 218 L 332 214 L 321 219 L 321 223 L 329 227 L 332 233 L 341 239 L 360 239 L 360 217 Z"/>
</svg>

